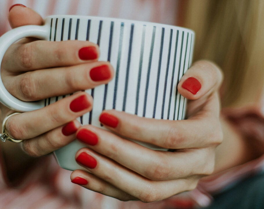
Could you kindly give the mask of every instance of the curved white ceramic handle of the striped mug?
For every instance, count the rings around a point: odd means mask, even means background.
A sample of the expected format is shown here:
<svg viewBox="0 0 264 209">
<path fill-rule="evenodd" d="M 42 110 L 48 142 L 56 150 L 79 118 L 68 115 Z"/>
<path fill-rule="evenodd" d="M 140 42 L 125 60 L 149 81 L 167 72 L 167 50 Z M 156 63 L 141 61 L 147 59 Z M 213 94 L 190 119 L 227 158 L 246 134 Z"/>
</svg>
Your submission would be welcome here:
<svg viewBox="0 0 264 209">
<path fill-rule="evenodd" d="M 1 67 L 1 62 L 3 60 L 3 56 L 6 53 L 6 50 L 14 42 L 24 37 L 34 37 L 38 39 L 48 40 L 49 36 L 50 36 L 50 26 L 48 25 L 21 26 L 18 28 L 14 28 L 8 31 L 7 33 L 3 34 L 0 37 L 0 67 Z M 1 74 L 0 74 L 0 102 L 3 105 L 9 107 L 10 109 L 20 112 L 32 111 L 44 107 L 43 101 L 25 102 L 12 96 L 4 87 L 4 84 L 1 79 Z"/>
</svg>

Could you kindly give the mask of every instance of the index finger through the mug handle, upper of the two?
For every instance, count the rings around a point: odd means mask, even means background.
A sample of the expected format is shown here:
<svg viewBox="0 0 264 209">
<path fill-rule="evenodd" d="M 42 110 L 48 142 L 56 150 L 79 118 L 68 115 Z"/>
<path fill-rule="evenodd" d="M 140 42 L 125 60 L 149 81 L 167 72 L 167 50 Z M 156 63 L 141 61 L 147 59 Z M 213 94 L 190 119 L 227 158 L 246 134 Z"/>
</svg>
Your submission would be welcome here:
<svg viewBox="0 0 264 209">
<path fill-rule="evenodd" d="M 99 57 L 99 47 L 88 41 L 25 42 L 10 46 L 3 57 L 2 65 L 11 73 L 76 65 Z"/>
</svg>

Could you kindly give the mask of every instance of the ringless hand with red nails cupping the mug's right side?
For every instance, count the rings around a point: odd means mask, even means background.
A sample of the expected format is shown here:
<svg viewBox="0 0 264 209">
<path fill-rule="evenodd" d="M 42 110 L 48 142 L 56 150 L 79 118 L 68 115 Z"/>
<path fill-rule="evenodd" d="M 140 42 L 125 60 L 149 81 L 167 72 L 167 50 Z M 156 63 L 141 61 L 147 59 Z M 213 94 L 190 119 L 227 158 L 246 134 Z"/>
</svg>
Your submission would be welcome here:
<svg viewBox="0 0 264 209">
<path fill-rule="evenodd" d="M 190 86 L 193 78 L 196 86 Z M 207 61 L 194 63 L 185 73 L 178 91 L 189 99 L 187 120 L 104 111 L 100 121 L 115 134 L 91 125 L 77 131 L 77 138 L 88 148 L 76 153 L 76 161 L 91 173 L 75 170 L 72 182 L 123 201 L 143 202 L 196 188 L 202 176 L 214 171 L 215 148 L 223 138 L 218 97 L 221 81 L 220 69 Z M 152 150 L 121 136 L 175 152 Z"/>
</svg>

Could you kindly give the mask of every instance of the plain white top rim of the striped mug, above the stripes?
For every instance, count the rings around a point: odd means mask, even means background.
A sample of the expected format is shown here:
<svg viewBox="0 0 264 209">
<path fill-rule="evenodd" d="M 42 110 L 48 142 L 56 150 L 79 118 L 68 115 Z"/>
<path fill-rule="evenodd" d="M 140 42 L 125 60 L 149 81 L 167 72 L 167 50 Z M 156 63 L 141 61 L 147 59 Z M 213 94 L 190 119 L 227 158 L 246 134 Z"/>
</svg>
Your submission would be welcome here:
<svg viewBox="0 0 264 209">
<path fill-rule="evenodd" d="M 45 18 L 51 19 L 51 18 L 79 18 L 79 19 L 98 19 L 98 20 L 108 20 L 108 21 L 119 21 L 119 22 L 126 22 L 129 24 L 144 24 L 144 25 L 150 25 L 150 26 L 159 26 L 159 27 L 164 27 L 164 28 L 172 28 L 176 30 L 181 30 L 181 31 L 188 31 L 189 33 L 193 33 L 195 35 L 194 30 L 181 27 L 181 26 L 175 26 L 175 25 L 170 25 L 170 24 L 162 24 L 162 23 L 155 23 L 155 22 L 149 22 L 149 21 L 140 21 L 140 20 L 131 20 L 131 19 L 123 19 L 123 18 L 116 18 L 116 17 L 100 17 L 100 16 L 89 16 L 89 15 L 49 15 Z"/>
</svg>

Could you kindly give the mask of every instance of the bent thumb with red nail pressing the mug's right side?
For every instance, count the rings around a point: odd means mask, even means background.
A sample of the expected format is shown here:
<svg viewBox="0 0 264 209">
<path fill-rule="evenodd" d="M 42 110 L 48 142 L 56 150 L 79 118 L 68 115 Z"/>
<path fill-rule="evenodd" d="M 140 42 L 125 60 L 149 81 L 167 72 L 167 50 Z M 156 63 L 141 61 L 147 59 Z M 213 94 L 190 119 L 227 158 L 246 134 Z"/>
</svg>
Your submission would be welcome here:
<svg viewBox="0 0 264 209">
<path fill-rule="evenodd" d="M 216 64 L 209 61 L 195 62 L 182 76 L 178 84 L 178 92 L 189 99 L 187 118 L 195 116 L 200 110 L 203 113 L 219 114 L 218 89 L 222 83 L 223 74 Z"/>
</svg>

